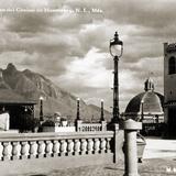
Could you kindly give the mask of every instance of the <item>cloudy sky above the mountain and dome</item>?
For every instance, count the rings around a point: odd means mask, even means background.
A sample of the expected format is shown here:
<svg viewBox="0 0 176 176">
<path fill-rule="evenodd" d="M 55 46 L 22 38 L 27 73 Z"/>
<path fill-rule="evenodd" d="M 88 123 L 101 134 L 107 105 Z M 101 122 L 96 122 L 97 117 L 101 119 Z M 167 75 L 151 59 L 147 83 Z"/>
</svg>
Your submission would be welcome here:
<svg viewBox="0 0 176 176">
<path fill-rule="evenodd" d="M 95 11 L 95 9 L 97 9 Z M 120 107 L 153 73 L 163 94 L 163 43 L 176 41 L 175 0 L 0 0 L 0 67 L 43 74 L 87 103 L 112 106 L 109 41 L 124 43 Z"/>
</svg>

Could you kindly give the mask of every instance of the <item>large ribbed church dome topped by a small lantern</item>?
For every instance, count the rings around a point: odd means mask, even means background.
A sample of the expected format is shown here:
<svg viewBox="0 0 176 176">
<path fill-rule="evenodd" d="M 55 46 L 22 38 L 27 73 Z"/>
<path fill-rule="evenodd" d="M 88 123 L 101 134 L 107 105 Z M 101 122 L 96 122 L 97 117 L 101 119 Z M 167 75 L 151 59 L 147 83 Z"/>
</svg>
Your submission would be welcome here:
<svg viewBox="0 0 176 176">
<path fill-rule="evenodd" d="M 150 116 L 163 114 L 164 97 L 154 91 L 154 81 L 151 78 L 144 82 L 144 90 L 130 100 L 124 112 L 127 117 L 136 118 L 142 111 Z"/>
</svg>

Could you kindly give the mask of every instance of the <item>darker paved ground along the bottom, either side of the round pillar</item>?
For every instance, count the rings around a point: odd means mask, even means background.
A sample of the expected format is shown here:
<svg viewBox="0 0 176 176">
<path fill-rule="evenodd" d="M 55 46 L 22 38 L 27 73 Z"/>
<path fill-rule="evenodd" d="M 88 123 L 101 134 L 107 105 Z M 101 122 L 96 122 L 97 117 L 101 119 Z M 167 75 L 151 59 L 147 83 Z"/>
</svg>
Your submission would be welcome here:
<svg viewBox="0 0 176 176">
<path fill-rule="evenodd" d="M 151 158 L 139 164 L 140 176 L 176 175 L 176 158 Z M 78 168 L 51 170 L 50 173 L 29 173 L 25 176 L 122 176 L 123 163 L 117 165 L 99 165 Z M 24 176 L 24 175 L 19 175 Z"/>
</svg>

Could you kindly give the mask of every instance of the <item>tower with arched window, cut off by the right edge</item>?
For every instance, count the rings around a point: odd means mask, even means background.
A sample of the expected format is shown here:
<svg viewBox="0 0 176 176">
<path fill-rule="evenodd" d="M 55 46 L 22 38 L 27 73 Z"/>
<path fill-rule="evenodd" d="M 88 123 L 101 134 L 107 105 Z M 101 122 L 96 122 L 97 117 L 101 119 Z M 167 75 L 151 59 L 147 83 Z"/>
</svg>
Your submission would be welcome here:
<svg viewBox="0 0 176 176">
<path fill-rule="evenodd" d="M 164 97 L 167 135 L 176 138 L 176 43 L 164 43 Z"/>
</svg>

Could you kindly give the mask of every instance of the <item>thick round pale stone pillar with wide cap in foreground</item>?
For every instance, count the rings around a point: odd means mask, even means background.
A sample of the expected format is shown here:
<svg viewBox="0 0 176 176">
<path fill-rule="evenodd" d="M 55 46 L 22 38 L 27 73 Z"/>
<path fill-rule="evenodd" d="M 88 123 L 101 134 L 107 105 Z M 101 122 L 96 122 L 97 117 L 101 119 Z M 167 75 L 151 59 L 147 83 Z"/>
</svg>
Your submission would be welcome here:
<svg viewBox="0 0 176 176">
<path fill-rule="evenodd" d="M 141 122 L 129 119 L 123 122 L 124 129 L 124 176 L 139 176 L 138 174 L 138 148 L 136 132 L 142 129 Z"/>
</svg>

